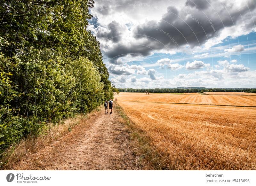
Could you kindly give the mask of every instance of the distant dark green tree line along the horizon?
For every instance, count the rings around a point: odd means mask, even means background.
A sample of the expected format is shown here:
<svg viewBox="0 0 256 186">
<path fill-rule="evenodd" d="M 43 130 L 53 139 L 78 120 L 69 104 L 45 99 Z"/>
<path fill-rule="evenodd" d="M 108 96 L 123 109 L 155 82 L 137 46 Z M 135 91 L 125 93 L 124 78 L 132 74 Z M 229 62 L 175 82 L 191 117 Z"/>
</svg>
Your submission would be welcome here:
<svg viewBox="0 0 256 186">
<path fill-rule="evenodd" d="M 132 88 L 118 88 L 119 92 L 150 92 L 150 93 L 189 93 L 189 92 L 255 92 L 252 88 L 155 88 L 155 89 L 132 89 Z"/>
</svg>

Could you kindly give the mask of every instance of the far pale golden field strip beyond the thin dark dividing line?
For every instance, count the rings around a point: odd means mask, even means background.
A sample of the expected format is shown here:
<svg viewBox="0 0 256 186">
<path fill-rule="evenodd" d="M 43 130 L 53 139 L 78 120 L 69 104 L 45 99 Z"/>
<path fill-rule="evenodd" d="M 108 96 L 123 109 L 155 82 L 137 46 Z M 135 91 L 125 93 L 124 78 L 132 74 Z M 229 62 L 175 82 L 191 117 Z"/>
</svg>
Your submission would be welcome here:
<svg viewBox="0 0 256 186">
<path fill-rule="evenodd" d="M 116 95 L 118 101 L 139 101 L 158 103 L 204 104 L 256 106 L 256 96 L 216 96 L 216 95 L 171 95 L 121 92 Z"/>
</svg>

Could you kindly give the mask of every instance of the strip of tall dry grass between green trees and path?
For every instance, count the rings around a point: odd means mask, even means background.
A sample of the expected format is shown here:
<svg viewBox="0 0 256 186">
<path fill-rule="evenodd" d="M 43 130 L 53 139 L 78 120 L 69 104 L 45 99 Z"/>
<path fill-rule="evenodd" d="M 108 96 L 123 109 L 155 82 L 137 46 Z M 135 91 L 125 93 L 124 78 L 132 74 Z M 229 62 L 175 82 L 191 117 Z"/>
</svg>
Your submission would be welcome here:
<svg viewBox="0 0 256 186">
<path fill-rule="evenodd" d="M 10 169 L 10 167 L 15 165 L 21 158 L 34 154 L 45 146 L 50 145 L 63 135 L 69 133 L 76 125 L 80 125 L 90 119 L 98 110 L 99 108 L 89 114 L 80 114 L 74 118 L 60 121 L 56 125 L 49 123 L 47 128 L 45 128 L 39 136 L 28 136 L 26 139 L 21 140 L 20 143 L 7 149 L 2 154 L 0 169 Z"/>
</svg>

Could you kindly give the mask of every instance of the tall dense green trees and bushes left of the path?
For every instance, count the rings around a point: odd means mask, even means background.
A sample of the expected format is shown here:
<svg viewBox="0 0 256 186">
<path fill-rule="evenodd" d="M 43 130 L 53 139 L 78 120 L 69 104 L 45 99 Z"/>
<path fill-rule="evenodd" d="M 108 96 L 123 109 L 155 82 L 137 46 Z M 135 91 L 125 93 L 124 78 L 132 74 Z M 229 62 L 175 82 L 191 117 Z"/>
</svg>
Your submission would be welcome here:
<svg viewBox="0 0 256 186">
<path fill-rule="evenodd" d="M 113 98 L 92 0 L 0 2 L 0 152 Z"/>
</svg>

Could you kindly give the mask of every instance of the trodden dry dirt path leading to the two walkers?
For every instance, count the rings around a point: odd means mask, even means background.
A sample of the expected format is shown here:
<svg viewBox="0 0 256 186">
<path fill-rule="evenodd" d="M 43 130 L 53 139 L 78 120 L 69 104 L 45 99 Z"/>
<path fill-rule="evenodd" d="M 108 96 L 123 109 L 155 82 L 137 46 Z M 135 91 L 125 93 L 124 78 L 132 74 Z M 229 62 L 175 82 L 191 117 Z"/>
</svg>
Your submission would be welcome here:
<svg viewBox="0 0 256 186">
<path fill-rule="evenodd" d="M 12 166 L 18 170 L 136 169 L 129 132 L 113 109 L 104 108 L 72 129 L 59 141 L 29 154 Z"/>
</svg>

